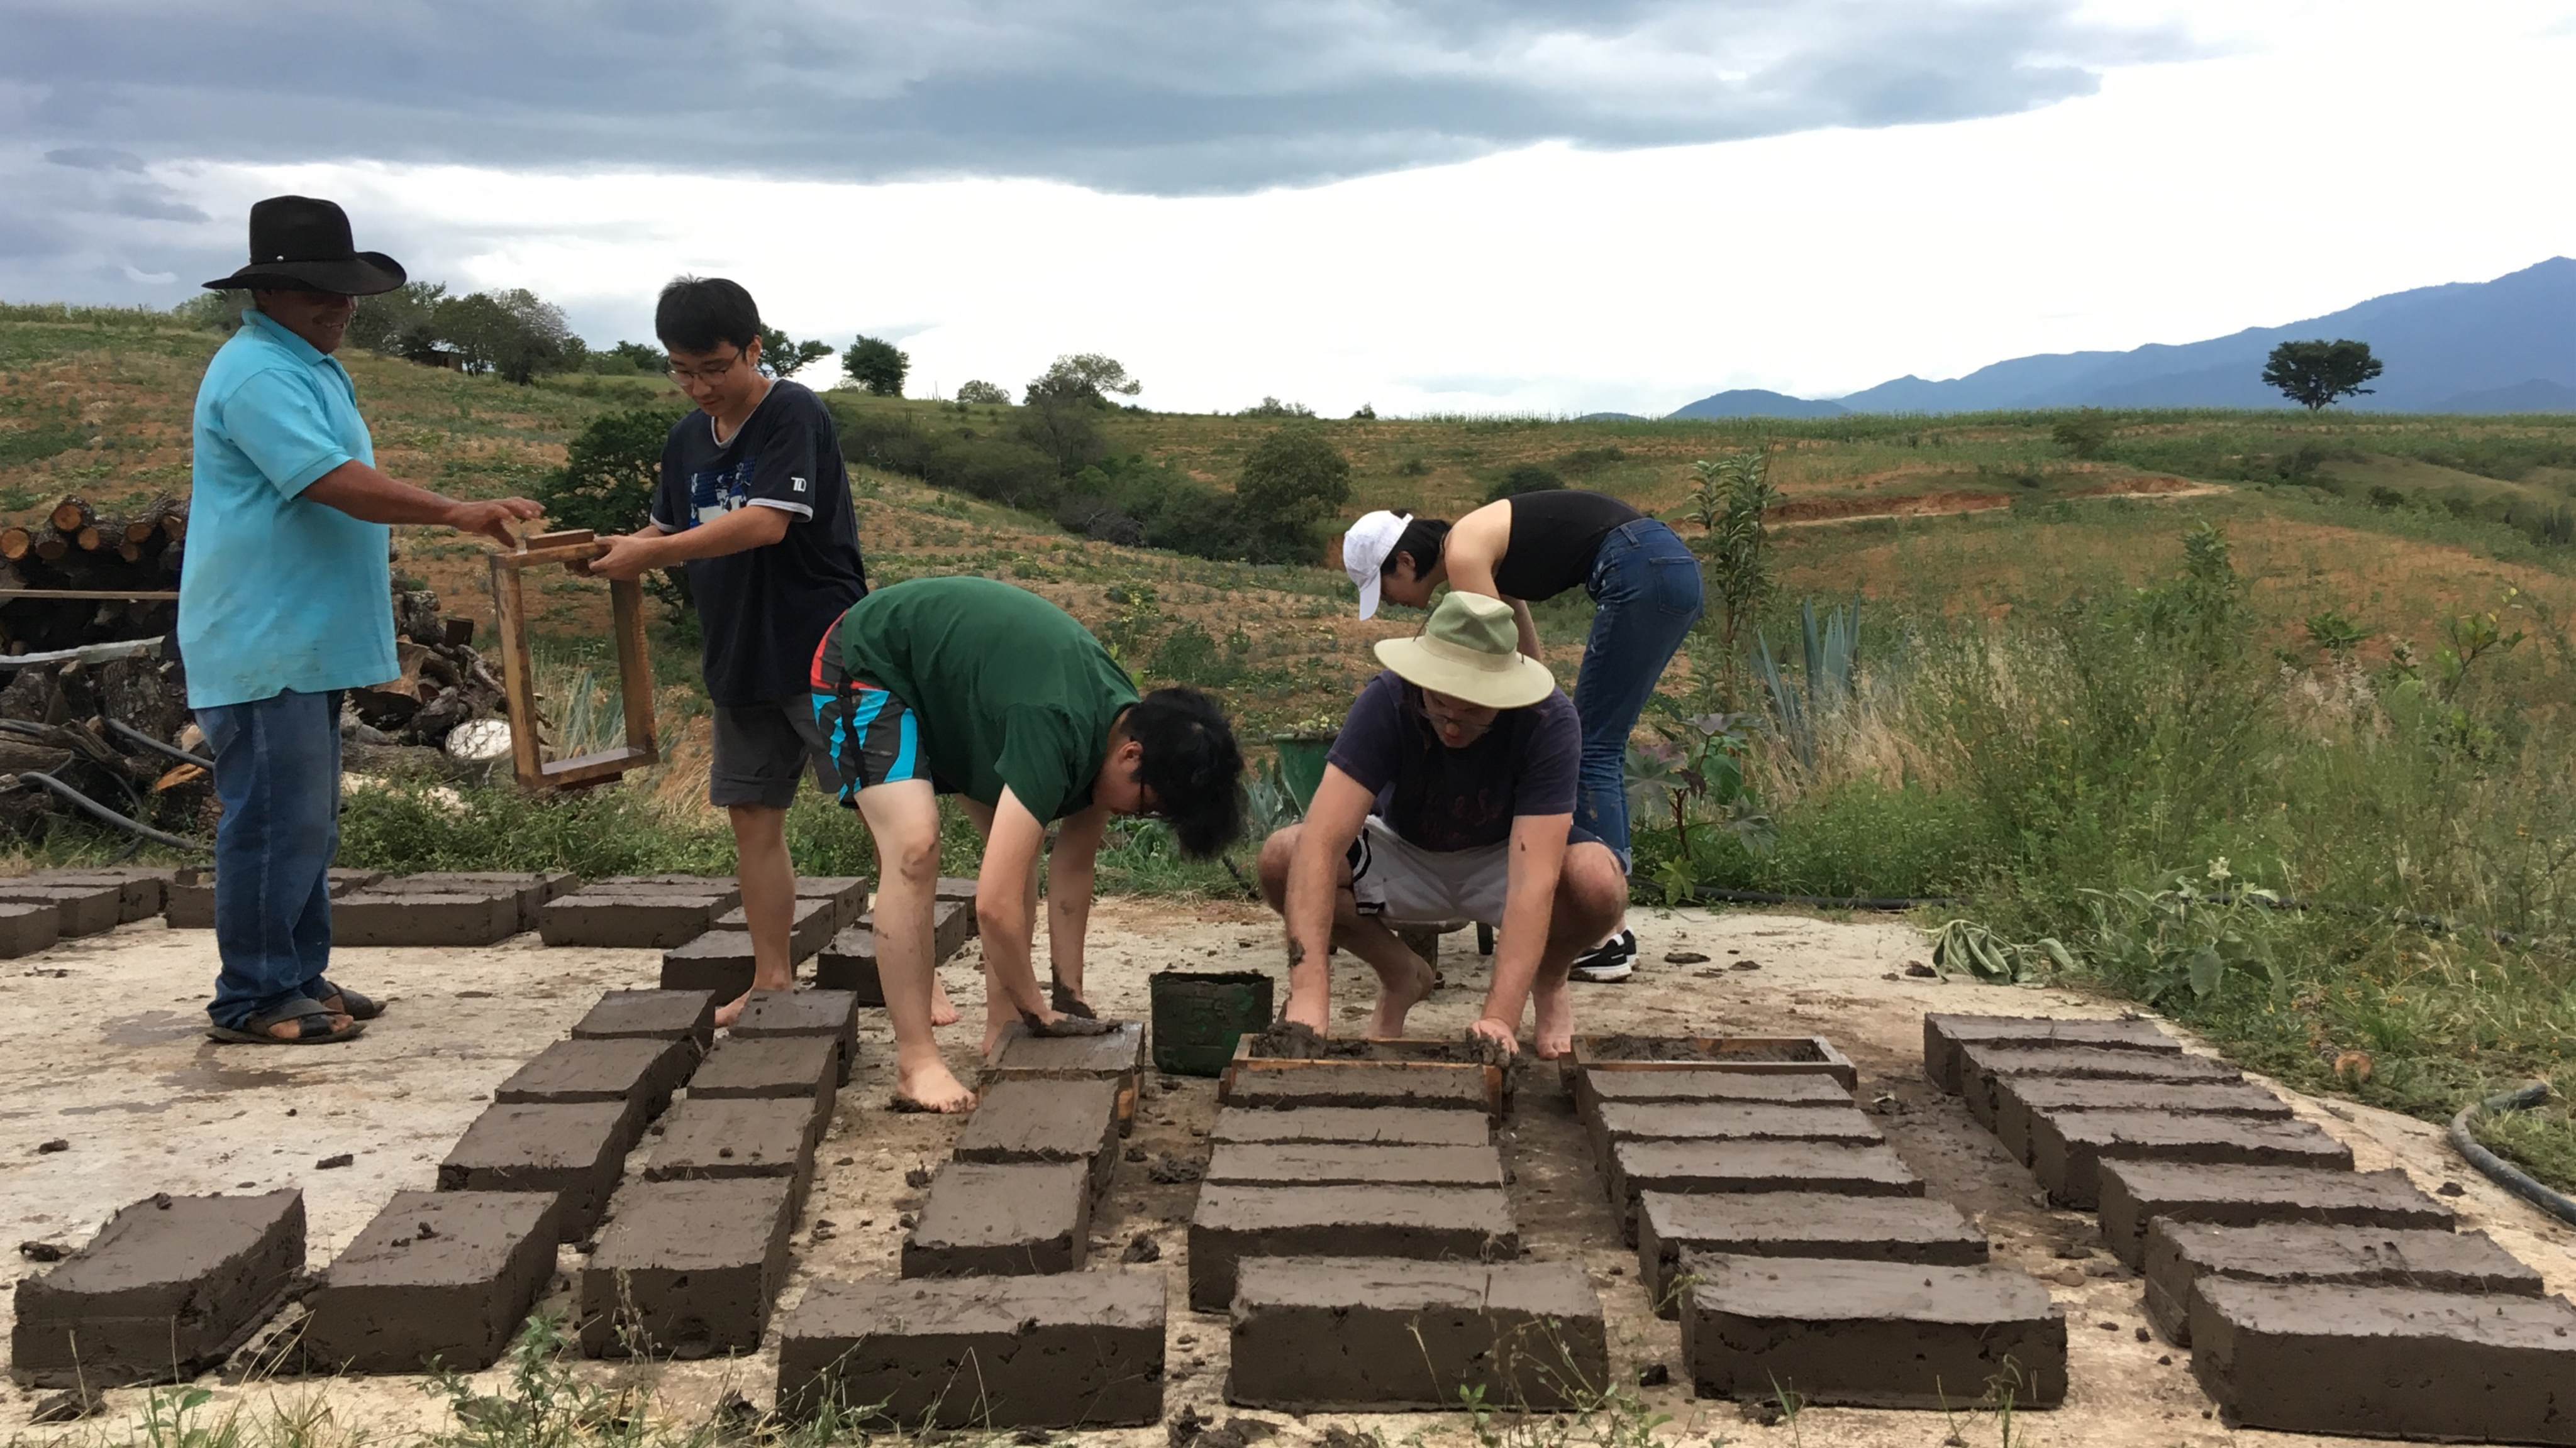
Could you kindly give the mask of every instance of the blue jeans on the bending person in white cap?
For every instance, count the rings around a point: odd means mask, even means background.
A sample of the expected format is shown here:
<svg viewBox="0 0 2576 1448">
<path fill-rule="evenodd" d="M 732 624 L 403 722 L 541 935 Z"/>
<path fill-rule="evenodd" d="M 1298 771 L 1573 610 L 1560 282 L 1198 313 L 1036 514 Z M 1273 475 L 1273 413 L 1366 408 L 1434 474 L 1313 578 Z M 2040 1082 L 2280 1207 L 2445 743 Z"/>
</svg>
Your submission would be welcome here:
<svg viewBox="0 0 2576 1448">
<path fill-rule="evenodd" d="M 1584 763 L 1574 822 L 1628 855 L 1628 732 L 1646 711 L 1664 665 L 1700 621 L 1700 559 L 1654 518 L 1620 523 L 1592 559 L 1592 636 L 1574 678 L 1574 714 L 1584 724 Z"/>
</svg>

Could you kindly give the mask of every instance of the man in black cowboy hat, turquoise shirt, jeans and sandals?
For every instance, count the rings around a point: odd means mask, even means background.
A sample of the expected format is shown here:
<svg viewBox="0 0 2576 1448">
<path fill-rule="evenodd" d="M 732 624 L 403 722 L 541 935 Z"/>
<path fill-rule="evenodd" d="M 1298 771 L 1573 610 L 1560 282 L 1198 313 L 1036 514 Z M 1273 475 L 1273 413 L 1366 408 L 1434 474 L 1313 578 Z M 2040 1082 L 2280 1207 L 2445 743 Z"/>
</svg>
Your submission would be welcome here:
<svg viewBox="0 0 2576 1448">
<path fill-rule="evenodd" d="M 389 523 L 510 541 L 526 497 L 459 502 L 376 472 L 358 392 L 332 358 L 358 296 L 402 265 L 350 245 L 348 214 L 309 196 L 250 206 L 250 265 L 206 283 L 250 291 L 242 330 L 196 389 L 188 569 L 178 642 L 188 706 L 214 752 L 216 1041 L 358 1036 L 381 1005 L 322 976 L 340 848 L 340 693 L 399 678 Z"/>
</svg>

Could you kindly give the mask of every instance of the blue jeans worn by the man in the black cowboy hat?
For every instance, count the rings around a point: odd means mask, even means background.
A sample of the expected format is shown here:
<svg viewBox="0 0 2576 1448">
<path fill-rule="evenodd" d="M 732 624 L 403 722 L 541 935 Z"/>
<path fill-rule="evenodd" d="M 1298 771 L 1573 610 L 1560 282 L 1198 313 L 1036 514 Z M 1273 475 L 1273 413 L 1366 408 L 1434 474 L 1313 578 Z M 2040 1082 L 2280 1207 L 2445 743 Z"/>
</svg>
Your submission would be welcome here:
<svg viewBox="0 0 2576 1448">
<path fill-rule="evenodd" d="M 330 861 L 340 850 L 340 693 L 198 709 L 214 752 L 216 1025 L 325 997 Z"/>
</svg>

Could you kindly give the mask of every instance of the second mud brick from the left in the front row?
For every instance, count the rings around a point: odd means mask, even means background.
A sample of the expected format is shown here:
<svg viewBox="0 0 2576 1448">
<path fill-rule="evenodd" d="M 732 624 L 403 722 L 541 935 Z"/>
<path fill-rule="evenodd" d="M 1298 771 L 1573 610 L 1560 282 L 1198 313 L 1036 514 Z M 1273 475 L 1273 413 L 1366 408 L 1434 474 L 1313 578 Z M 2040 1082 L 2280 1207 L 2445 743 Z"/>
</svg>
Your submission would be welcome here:
<svg viewBox="0 0 2576 1448">
<path fill-rule="evenodd" d="M 554 1198 L 399 1190 L 307 1299 L 314 1373 L 489 1368 L 554 1278 Z"/>
</svg>

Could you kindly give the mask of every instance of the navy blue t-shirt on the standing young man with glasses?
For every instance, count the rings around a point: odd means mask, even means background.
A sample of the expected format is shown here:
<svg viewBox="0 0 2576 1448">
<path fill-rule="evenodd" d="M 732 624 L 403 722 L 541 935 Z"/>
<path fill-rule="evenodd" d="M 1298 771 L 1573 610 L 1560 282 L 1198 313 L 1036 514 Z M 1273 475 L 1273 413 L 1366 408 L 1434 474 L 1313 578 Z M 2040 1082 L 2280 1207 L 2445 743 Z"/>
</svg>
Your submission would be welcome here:
<svg viewBox="0 0 2576 1448">
<path fill-rule="evenodd" d="M 706 634 L 706 696 L 729 709 L 801 696 L 814 647 L 868 593 L 840 433 L 811 389 L 773 381 L 724 443 L 706 412 L 665 438 L 654 526 L 680 533 L 734 508 L 791 520 L 765 549 L 683 564 Z"/>
</svg>

